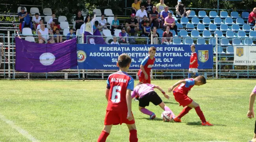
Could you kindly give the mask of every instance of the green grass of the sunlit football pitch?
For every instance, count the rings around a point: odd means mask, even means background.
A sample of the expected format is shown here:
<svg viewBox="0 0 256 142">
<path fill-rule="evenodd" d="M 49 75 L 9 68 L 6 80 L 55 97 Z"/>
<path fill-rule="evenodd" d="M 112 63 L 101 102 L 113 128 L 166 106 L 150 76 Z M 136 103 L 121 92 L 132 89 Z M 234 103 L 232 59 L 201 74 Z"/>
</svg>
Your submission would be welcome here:
<svg viewBox="0 0 256 142">
<path fill-rule="evenodd" d="M 153 80 L 152 84 L 167 91 L 175 82 Z M 212 127 L 201 126 L 194 109 L 182 123 L 163 122 L 163 110 L 152 103 L 148 109 L 156 119 L 149 120 L 132 101 L 139 142 L 249 141 L 255 119 L 246 114 L 255 84 L 255 80 L 208 80 L 194 86 L 189 96 L 200 104 L 206 120 L 215 124 Z M 106 81 L 0 81 L 0 141 L 96 142 L 106 113 L 105 88 Z M 167 100 L 157 92 L 176 115 L 180 113 L 182 107 L 172 93 Z M 128 129 L 122 124 L 113 126 L 107 142 L 128 140 Z"/>
</svg>

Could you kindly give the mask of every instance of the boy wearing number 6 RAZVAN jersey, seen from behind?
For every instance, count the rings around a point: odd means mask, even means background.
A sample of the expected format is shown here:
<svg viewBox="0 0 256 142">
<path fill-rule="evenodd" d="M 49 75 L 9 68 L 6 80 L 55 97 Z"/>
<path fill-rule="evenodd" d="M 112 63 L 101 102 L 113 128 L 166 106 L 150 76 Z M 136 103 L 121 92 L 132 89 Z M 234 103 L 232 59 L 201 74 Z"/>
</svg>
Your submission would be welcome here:
<svg viewBox="0 0 256 142">
<path fill-rule="evenodd" d="M 108 100 L 104 128 L 98 142 L 105 142 L 113 125 L 125 123 L 130 131 L 130 142 L 137 142 L 137 130 L 132 115 L 131 91 L 134 90 L 134 79 L 126 72 L 132 59 L 127 54 L 118 57 L 119 71 L 108 76 L 106 99 Z"/>
</svg>

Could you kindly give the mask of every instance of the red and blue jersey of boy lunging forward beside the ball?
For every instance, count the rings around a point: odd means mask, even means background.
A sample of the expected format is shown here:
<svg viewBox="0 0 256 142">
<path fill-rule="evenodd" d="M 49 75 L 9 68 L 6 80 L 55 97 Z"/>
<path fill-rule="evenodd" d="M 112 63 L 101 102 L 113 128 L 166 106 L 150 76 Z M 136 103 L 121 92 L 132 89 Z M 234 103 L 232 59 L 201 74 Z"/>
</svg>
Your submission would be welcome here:
<svg viewBox="0 0 256 142">
<path fill-rule="evenodd" d="M 186 81 L 186 83 L 182 83 L 179 84 L 173 91 L 174 92 L 179 92 L 182 93 L 184 95 L 187 95 L 188 92 L 191 90 L 191 88 L 193 86 L 195 86 L 195 81 L 193 78 L 189 78 L 189 79 L 184 79 Z"/>
</svg>

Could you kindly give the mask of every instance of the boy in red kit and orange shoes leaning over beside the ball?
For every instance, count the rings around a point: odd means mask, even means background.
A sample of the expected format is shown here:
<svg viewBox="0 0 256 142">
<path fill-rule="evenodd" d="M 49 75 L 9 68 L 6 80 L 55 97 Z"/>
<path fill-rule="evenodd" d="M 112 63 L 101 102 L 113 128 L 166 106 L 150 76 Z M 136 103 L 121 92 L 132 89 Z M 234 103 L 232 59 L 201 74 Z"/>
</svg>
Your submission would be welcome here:
<svg viewBox="0 0 256 142">
<path fill-rule="evenodd" d="M 168 92 L 173 91 L 174 99 L 180 103 L 180 106 L 185 107 L 181 113 L 174 118 L 175 122 L 181 122 L 181 118 L 186 115 L 189 110 L 192 108 L 195 108 L 195 111 L 197 112 L 197 115 L 200 117 L 202 121 L 203 126 L 213 126 L 213 124 L 210 124 L 206 121 L 204 117 L 204 113 L 201 111 L 199 104 L 197 104 L 195 101 L 193 101 L 191 98 L 187 96 L 188 92 L 191 90 L 191 88 L 195 85 L 200 86 L 206 84 L 206 79 L 204 76 L 199 75 L 195 79 L 189 78 L 180 80 L 177 83 L 175 83 L 173 86 L 168 88 Z M 178 87 L 176 87 L 178 86 Z M 176 87 L 176 88 L 175 88 Z M 174 89 L 175 88 L 175 89 Z M 174 90 L 173 90 L 174 89 Z"/>
</svg>

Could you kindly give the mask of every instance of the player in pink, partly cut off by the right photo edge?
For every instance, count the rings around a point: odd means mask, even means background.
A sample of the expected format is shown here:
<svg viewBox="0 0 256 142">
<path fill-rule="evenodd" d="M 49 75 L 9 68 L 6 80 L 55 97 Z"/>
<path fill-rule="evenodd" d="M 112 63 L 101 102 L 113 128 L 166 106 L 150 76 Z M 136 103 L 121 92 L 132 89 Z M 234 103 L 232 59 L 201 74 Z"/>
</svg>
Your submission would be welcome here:
<svg viewBox="0 0 256 142">
<path fill-rule="evenodd" d="M 254 118 L 254 111 L 253 111 L 253 104 L 256 96 L 256 86 L 252 90 L 252 93 L 250 93 L 250 100 L 249 100 L 249 111 L 247 113 L 247 117 L 249 119 Z M 256 142 L 256 121 L 255 121 L 255 126 L 254 126 L 254 137 L 250 142 Z"/>
</svg>

